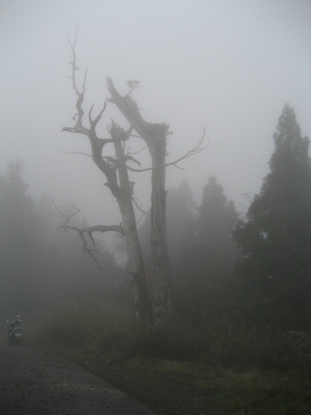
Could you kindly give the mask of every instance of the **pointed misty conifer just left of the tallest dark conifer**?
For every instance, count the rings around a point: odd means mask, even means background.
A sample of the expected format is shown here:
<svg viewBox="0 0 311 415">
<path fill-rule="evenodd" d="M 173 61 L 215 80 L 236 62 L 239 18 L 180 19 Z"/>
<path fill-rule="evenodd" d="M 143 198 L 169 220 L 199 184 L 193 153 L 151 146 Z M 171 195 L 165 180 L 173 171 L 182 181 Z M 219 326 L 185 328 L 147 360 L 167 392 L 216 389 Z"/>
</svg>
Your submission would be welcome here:
<svg viewBox="0 0 311 415">
<path fill-rule="evenodd" d="M 234 203 L 227 201 L 223 187 L 211 176 L 191 219 L 183 265 L 188 278 L 179 290 L 181 311 L 193 322 L 225 315 L 231 308 L 231 270 L 237 256 L 232 230 L 237 216 Z"/>
</svg>

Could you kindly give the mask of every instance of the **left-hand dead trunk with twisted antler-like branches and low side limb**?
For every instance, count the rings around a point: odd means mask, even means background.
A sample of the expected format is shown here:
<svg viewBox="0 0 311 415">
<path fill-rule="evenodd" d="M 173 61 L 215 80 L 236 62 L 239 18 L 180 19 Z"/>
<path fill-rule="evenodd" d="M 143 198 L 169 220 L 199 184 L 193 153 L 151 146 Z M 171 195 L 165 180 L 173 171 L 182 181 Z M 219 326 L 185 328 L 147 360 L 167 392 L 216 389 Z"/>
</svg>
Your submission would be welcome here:
<svg viewBox="0 0 311 415">
<path fill-rule="evenodd" d="M 76 40 L 77 35 L 75 37 L 75 42 Z M 73 127 L 64 127 L 63 131 L 80 133 L 88 138 L 91 146 L 91 156 L 93 161 L 100 169 L 100 171 L 104 174 L 104 176 L 106 176 L 106 186 L 109 187 L 111 194 L 113 194 L 117 200 L 122 217 L 122 224 L 120 225 L 98 225 L 78 231 L 82 237 L 84 232 L 87 232 L 91 239 L 93 239 L 93 232 L 106 232 L 114 230 L 124 235 L 129 257 L 129 273 L 131 275 L 131 284 L 133 288 L 135 317 L 138 321 L 149 321 L 151 320 L 151 304 L 149 302 L 147 280 L 144 272 L 140 242 L 138 239 L 137 224 L 133 208 L 133 194 L 131 183 L 129 182 L 129 175 L 126 167 L 126 161 L 128 160 L 128 157 L 124 152 L 124 145 L 122 144 L 124 140 L 129 138 L 131 129 L 129 131 L 124 131 L 124 129 L 121 129 L 117 124 L 115 124 L 115 122 L 111 122 L 109 127 L 109 133 L 111 137 L 100 138 L 97 136 L 96 127 L 102 118 L 106 108 L 106 102 L 100 113 L 98 113 L 95 118 L 92 118 L 93 106 L 91 107 L 91 109 L 88 111 L 89 127 L 86 127 L 83 109 L 84 95 L 86 92 L 86 72 L 82 85 L 78 86 L 76 80 L 76 72 L 78 68 L 75 57 L 75 42 L 73 42 L 73 44 L 69 42 L 69 44 L 73 53 L 73 59 L 70 64 L 72 65 L 71 79 L 73 82 L 73 89 L 77 95 L 77 113 L 73 118 L 75 120 L 75 125 Z M 113 144 L 115 156 L 109 156 L 105 158 L 103 150 L 105 145 L 108 143 Z M 62 228 L 74 229 L 68 224 L 63 225 Z M 86 246 L 84 246 L 84 248 L 86 248 Z"/>
</svg>

